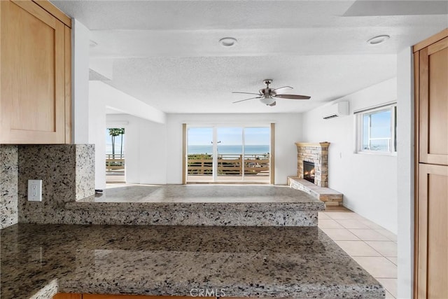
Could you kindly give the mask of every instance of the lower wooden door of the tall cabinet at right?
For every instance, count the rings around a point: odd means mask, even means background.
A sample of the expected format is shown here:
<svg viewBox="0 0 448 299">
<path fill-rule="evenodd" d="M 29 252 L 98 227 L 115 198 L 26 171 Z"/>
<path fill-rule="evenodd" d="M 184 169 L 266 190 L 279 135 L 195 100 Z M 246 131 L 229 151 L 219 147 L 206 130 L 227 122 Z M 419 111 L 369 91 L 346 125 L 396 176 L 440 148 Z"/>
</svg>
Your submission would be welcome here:
<svg viewBox="0 0 448 299">
<path fill-rule="evenodd" d="M 448 298 L 448 166 L 419 165 L 417 298 Z"/>
</svg>

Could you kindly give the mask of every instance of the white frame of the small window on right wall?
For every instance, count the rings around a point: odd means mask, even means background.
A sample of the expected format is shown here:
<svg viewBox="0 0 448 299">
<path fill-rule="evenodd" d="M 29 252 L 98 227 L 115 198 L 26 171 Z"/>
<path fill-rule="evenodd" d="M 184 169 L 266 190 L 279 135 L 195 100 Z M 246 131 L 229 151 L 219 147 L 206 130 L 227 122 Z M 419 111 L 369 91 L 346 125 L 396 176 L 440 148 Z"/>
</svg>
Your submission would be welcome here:
<svg viewBox="0 0 448 299">
<path fill-rule="evenodd" d="M 391 111 L 391 138 L 388 151 L 372 151 L 363 149 L 363 118 L 380 111 Z M 355 153 L 365 153 L 372 155 L 397 155 L 397 103 L 384 104 L 381 106 L 363 109 L 354 113 L 356 117 L 356 148 Z M 370 129 L 370 125 L 369 125 Z"/>
</svg>

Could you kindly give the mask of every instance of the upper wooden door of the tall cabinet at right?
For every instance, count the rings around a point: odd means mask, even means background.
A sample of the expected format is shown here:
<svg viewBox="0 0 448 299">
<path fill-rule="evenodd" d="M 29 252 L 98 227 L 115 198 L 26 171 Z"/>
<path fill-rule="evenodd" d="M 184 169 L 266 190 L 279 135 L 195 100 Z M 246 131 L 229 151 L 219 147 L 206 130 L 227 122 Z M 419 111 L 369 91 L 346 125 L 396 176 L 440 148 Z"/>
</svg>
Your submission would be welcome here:
<svg viewBox="0 0 448 299">
<path fill-rule="evenodd" d="M 448 165 L 448 37 L 419 51 L 419 162 Z"/>
</svg>

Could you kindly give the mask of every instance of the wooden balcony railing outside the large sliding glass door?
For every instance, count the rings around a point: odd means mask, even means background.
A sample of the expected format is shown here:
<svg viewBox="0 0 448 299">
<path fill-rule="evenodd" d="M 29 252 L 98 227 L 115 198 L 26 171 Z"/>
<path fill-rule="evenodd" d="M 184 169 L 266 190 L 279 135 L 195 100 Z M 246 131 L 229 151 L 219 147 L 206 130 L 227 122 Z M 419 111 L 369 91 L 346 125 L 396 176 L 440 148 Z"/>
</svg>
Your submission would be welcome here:
<svg viewBox="0 0 448 299">
<path fill-rule="evenodd" d="M 209 154 L 188 155 L 190 175 L 211 176 L 213 157 Z M 269 176 L 269 154 L 218 154 L 218 176 Z"/>
</svg>

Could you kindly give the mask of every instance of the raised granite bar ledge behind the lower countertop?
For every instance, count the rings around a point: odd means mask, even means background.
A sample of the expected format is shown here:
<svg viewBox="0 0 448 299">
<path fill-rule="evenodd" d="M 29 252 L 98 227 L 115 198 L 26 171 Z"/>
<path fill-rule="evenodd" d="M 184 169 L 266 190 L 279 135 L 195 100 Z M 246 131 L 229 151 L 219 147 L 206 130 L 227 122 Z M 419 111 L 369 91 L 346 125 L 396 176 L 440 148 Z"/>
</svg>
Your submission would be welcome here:
<svg viewBox="0 0 448 299">
<path fill-rule="evenodd" d="M 64 223 L 316 226 L 323 209 L 287 186 L 127 186 L 67 202 Z"/>
</svg>

